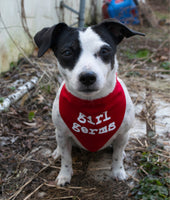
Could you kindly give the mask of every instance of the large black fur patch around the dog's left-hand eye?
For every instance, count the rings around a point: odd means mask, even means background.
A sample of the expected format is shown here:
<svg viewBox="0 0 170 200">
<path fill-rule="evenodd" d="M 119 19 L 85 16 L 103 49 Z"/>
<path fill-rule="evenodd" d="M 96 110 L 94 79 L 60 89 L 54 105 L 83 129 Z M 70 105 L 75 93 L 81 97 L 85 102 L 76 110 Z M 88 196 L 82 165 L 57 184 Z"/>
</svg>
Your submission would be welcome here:
<svg viewBox="0 0 170 200">
<path fill-rule="evenodd" d="M 63 68 L 72 70 L 81 53 L 78 29 L 68 27 L 59 37 L 53 37 L 52 50 Z"/>
</svg>

